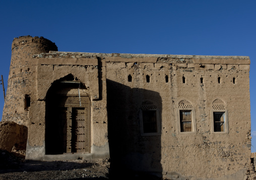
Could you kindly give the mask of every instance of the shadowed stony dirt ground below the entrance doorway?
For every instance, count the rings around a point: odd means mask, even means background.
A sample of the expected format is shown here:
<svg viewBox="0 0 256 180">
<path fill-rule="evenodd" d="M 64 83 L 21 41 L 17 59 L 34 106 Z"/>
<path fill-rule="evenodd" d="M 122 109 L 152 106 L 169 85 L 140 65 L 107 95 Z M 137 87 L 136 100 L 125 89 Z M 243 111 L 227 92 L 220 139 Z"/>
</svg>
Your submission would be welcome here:
<svg viewBox="0 0 256 180">
<path fill-rule="evenodd" d="M 0 179 L 108 179 L 108 168 L 85 160 L 22 163 L 16 169 L 1 169 Z"/>
</svg>

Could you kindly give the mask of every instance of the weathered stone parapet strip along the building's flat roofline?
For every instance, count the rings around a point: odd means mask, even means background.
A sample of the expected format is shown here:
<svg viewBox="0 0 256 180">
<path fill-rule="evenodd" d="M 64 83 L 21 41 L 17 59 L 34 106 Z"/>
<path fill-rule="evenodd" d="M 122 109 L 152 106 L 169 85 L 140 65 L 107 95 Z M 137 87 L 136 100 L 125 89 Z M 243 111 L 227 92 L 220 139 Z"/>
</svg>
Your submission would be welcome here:
<svg viewBox="0 0 256 180">
<path fill-rule="evenodd" d="M 193 68 L 195 70 L 249 70 L 250 59 L 248 56 L 196 56 L 196 55 L 156 55 L 156 54 L 118 54 L 118 53 L 79 53 L 79 52 L 54 52 L 33 55 L 33 59 L 88 59 L 101 58 L 106 63 L 161 63 L 168 69 Z M 143 64 L 142 64 L 143 66 Z"/>
</svg>

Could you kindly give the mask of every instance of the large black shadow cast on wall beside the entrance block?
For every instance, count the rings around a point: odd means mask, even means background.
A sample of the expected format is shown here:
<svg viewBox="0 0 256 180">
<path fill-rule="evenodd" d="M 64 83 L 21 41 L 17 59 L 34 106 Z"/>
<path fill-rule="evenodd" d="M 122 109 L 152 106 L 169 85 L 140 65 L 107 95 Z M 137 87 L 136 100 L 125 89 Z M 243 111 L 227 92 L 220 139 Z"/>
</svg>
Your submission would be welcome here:
<svg viewBox="0 0 256 180">
<path fill-rule="evenodd" d="M 107 79 L 108 137 L 114 173 L 162 175 L 161 110 L 158 92 Z"/>
</svg>

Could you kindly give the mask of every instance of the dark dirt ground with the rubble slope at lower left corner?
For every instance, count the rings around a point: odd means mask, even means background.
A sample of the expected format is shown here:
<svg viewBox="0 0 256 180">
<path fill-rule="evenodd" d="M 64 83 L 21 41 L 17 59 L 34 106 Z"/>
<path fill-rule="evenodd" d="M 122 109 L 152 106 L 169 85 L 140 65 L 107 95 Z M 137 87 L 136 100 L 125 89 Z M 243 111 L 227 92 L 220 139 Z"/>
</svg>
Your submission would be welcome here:
<svg viewBox="0 0 256 180">
<path fill-rule="evenodd" d="M 23 156 L 1 151 L 0 180 L 43 179 L 109 179 L 108 159 L 30 161 Z"/>
</svg>

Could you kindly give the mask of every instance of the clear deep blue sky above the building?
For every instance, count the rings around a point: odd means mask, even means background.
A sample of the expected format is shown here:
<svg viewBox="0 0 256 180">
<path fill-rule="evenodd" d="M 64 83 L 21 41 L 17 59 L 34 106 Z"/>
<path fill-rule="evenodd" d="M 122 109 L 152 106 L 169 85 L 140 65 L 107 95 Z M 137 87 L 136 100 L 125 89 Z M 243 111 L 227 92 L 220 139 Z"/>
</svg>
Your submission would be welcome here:
<svg viewBox="0 0 256 180">
<path fill-rule="evenodd" d="M 7 89 L 12 41 L 26 35 L 47 38 L 59 51 L 249 56 L 256 148 L 255 9 L 256 1 L 246 0 L 2 1 L 0 75 Z"/>
</svg>

